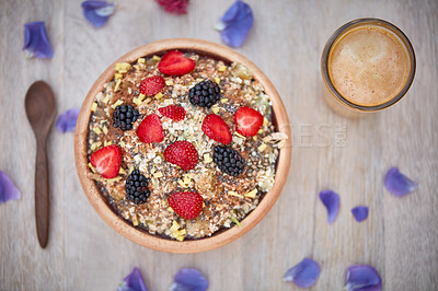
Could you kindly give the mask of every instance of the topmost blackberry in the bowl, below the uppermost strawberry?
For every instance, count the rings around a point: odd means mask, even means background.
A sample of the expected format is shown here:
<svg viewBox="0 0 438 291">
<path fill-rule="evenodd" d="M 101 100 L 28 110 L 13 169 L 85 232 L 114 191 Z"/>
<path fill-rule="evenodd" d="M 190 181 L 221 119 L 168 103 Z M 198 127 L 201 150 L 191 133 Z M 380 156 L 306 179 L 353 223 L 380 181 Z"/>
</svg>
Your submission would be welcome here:
<svg viewBox="0 0 438 291">
<path fill-rule="evenodd" d="M 193 105 L 210 108 L 220 98 L 220 88 L 210 80 L 204 80 L 188 91 L 188 98 Z"/>
</svg>

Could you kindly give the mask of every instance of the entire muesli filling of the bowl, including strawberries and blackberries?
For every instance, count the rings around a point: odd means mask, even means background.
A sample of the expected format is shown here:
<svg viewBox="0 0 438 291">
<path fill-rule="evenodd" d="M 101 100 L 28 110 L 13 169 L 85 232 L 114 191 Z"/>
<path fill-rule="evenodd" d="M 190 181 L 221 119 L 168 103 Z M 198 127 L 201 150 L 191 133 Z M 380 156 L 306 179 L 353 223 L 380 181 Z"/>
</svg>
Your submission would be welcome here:
<svg viewBox="0 0 438 291">
<path fill-rule="evenodd" d="M 132 225 L 177 241 L 239 226 L 287 138 L 249 69 L 194 53 L 117 63 L 91 110 L 88 177 Z"/>
</svg>

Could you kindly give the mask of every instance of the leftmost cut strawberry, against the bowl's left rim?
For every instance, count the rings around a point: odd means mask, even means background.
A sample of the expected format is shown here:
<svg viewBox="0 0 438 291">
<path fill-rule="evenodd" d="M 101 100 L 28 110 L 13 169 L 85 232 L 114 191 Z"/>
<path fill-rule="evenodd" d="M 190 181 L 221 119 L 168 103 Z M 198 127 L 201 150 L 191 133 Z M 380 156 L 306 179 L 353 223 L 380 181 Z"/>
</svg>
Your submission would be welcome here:
<svg viewBox="0 0 438 291">
<path fill-rule="evenodd" d="M 114 178 L 118 175 L 122 164 L 122 150 L 117 144 L 111 144 L 93 152 L 91 165 L 104 178 Z"/>
</svg>

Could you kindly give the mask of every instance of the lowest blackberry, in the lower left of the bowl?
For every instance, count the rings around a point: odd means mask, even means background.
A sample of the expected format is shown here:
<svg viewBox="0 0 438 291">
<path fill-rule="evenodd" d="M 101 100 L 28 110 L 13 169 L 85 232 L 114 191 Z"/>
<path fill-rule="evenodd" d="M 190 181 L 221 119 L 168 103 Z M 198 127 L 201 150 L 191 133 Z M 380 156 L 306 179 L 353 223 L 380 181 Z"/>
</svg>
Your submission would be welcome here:
<svg viewBox="0 0 438 291">
<path fill-rule="evenodd" d="M 126 181 L 126 197 L 136 205 L 143 203 L 150 196 L 148 185 L 149 179 L 141 175 L 140 171 L 134 170 Z"/>
</svg>

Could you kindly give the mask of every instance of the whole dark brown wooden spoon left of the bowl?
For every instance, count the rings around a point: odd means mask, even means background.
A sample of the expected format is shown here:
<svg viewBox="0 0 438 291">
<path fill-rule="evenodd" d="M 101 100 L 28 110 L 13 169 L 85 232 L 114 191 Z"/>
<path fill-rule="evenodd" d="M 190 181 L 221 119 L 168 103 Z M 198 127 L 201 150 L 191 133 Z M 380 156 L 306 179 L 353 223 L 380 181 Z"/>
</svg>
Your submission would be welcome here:
<svg viewBox="0 0 438 291">
<path fill-rule="evenodd" d="M 48 240 L 49 216 L 46 141 L 55 117 L 55 96 L 50 86 L 43 81 L 33 83 L 27 90 L 24 106 L 36 138 L 35 220 L 38 242 L 44 248 Z"/>
</svg>

